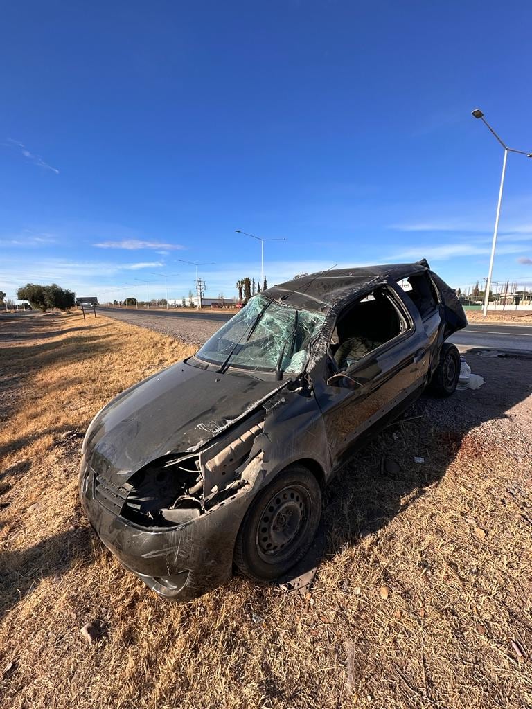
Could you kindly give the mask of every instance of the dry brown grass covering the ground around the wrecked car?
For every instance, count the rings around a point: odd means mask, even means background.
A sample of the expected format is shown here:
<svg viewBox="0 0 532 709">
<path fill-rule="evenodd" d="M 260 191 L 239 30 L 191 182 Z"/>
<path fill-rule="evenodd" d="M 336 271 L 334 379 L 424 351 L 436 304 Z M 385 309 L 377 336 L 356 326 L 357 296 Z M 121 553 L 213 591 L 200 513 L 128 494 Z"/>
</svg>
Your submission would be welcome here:
<svg viewBox="0 0 532 709">
<path fill-rule="evenodd" d="M 358 455 L 310 597 L 236 577 L 174 605 L 96 540 L 77 469 L 96 411 L 191 351 L 79 313 L 0 322 L 1 707 L 531 707 L 532 363 L 477 358 L 487 385 Z"/>
</svg>

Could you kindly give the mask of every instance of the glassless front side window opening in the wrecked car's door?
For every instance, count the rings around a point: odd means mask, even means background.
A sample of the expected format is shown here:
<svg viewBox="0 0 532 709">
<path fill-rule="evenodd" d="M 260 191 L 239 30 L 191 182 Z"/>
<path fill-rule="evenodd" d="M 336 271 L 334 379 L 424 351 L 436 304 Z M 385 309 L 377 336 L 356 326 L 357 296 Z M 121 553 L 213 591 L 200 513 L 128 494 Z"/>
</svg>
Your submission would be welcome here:
<svg viewBox="0 0 532 709">
<path fill-rule="evenodd" d="M 345 308 L 336 320 L 329 352 L 338 372 L 410 327 L 386 288 L 379 288 Z"/>
</svg>

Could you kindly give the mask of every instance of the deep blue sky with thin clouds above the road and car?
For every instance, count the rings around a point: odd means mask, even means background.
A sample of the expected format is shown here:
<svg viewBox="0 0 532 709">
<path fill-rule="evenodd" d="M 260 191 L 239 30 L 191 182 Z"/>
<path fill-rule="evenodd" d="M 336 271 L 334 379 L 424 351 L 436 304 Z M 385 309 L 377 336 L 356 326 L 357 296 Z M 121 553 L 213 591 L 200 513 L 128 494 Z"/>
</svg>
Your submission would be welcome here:
<svg viewBox="0 0 532 709">
<path fill-rule="evenodd" d="M 0 290 L 161 297 L 160 272 L 180 297 L 181 258 L 233 296 L 260 274 L 235 229 L 287 238 L 270 284 L 421 257 L 481 280 L 502 149 L 470 111 L 532 150 L 531 19 L 524 1 L 6 4 Z M 496 280 L 532 282 L 531 187 L 510 155 Z"/>
</svg>

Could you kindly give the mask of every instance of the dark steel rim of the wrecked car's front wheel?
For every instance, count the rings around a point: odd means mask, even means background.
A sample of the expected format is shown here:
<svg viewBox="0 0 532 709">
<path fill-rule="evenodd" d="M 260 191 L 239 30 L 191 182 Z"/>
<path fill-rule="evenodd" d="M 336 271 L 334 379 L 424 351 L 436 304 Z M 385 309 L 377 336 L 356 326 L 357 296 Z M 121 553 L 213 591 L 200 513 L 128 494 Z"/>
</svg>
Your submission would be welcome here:
<svg viewBox="0 0 532 709">
<path fill-rule="evenodd" d="M 260 515 L 255 544 L 262 561 L 279 564 L 301 547 L 312 500 L 303 485 L 290 485 L 276 493 Z"/>
</svg>

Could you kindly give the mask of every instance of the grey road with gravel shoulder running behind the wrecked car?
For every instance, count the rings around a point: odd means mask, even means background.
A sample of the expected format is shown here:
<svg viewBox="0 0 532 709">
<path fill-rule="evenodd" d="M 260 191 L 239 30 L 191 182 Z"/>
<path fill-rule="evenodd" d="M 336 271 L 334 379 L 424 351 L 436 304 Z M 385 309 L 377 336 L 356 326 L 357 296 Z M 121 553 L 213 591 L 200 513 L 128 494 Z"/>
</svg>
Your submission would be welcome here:
<svg viewBox="0 0 532 709">
<path fill-rule="evenodd" d="M 133 310 L 124 308 L 99 308 L 102 315 L 126 320 L 128 323 L 160 330 L 174 337 L 192 342 L 203 342 L 212 335 L 233 313 L 211 313 L 187 310 Z M 149 320 L 149 322 L 148 322 Z M 157 321 L 160 327 L 157 327 Z M 155 323 L 155 326 L 154 326 Z M 532 325 L 506 325 L 506 323 L 471 323 L 465 330 L 450 338 L 455 345 L 486 347 L 495 350 L 526 350 L 532 352 Z"/>
</svg>

